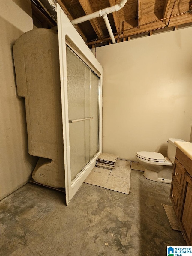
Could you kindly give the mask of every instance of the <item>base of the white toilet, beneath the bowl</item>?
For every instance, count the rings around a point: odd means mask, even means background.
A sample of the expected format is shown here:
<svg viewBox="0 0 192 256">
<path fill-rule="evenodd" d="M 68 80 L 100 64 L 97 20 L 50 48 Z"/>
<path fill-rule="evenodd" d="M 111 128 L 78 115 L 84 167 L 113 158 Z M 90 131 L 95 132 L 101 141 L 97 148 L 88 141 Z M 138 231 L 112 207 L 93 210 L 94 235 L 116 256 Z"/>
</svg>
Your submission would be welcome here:
<svg viewBox="0 0 192 256">
<path fill-rule="evenodd" d="M 165 168 L 160 172 L 155 172 L 155 171 L 145 169 L 143 176 L 153 181 L 170 184 L 172 180 L 172 173 L 173 173 L 173 169 L 171 168 Z"/>
</svg>

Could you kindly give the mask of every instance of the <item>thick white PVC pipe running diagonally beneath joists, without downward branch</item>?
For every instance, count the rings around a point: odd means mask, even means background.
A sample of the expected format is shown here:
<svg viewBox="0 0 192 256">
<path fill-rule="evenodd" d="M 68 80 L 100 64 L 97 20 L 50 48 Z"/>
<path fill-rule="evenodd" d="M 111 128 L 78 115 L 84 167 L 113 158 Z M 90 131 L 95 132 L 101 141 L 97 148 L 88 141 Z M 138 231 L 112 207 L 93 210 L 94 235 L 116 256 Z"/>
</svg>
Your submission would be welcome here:
<svg viewBox="0 0 192 256">
<path fill-rule="evenodd" d="M 121 2 L 119 4 L 116 4 L 116 5 L 101 9 L 99 11 L 96 11 L 94 13 L 82 16 L 80 18 L 72 20 L 71 22 L 73 24 L 78 24 L 78 23 L 82 23 L 82 22 L 87 21 L 87 20 L 91 20 L 91 19 L 94 19 L 94 18 L 97 18 L 97 17 L 104 16 L 105 14 L 110 14 L 112 12 L 119 11 L 121 8 L 124 7 L 126 2 L 127 2 L 127 0 L 121 0 Z"/>
</svg>

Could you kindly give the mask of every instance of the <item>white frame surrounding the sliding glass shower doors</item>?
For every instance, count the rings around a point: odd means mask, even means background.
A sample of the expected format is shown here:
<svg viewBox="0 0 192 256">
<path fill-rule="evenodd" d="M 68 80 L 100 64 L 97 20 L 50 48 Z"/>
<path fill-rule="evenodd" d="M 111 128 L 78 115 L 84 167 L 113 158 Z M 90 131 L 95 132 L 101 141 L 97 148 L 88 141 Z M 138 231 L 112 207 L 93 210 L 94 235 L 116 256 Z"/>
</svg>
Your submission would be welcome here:
<svg viewBox="0 0 192 256">
<path fill-rule="evenodd" d="M 72 197 L 78 191 L 88 174 L 96 164 L 98 155 L 101 154 L 101 134 L 102 134 L 102 80 L 103 68 L 91 50 L 85 44 L 79 33 L 73 27 L 70 20 L 57 4 L 57 26 L 58 26 L 58 41 L 59 41 L 59 62 L 60 62 L 60 77 L 61 77 L 61 105 L 62 105 L 62 122 L 63 122 L 63 140 L 64 140 L 64 172 L 65 172 L 65 191 L 66 204 L 70 202 Z M 70 169 L 70 143 L 69 143 L 69 116 L 68 116 L 68 96 L 67 96 L 67 59 L 66 59 L 66 41 L 78 52 L 93 71 L 100 77 L 100 98 L 99 98 L 99 151 L 83 168 L 83 170 L 71 182 Z"/>
</svg>

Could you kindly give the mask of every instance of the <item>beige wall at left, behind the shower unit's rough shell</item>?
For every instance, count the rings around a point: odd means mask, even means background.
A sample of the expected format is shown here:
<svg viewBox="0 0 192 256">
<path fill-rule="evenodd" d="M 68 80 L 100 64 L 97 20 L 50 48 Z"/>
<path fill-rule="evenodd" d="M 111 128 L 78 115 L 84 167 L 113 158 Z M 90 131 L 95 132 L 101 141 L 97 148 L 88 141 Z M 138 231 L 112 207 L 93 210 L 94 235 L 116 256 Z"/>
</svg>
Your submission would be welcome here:
<svg viewBox="0 0 192 256">
<path fill-rule="evenodd" d="M 33 29 L 29 0 L 1 1 L 0 199 L 28 182 L 36 158 L 28 154 L 24 99 L 16 96 L 12 47 Z"/>
</svg>

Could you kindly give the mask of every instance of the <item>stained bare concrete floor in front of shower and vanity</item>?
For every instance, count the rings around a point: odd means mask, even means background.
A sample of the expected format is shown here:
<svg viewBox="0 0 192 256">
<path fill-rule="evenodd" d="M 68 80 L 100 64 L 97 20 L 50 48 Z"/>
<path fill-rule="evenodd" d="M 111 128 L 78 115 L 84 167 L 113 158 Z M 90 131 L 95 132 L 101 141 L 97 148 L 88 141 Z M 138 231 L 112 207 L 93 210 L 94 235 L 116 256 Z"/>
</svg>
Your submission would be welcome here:
<svg viewBox="0 0 192 256">
<path fill-rule="evenodd" d="M 62 192 L 28 183 L 0 202 L 0 255 L 166 255 L 186 246 L 162 206 L 169 192 L 131 170 L 129 195 L 83 183 L 65 206 Z"/>
</svg>

